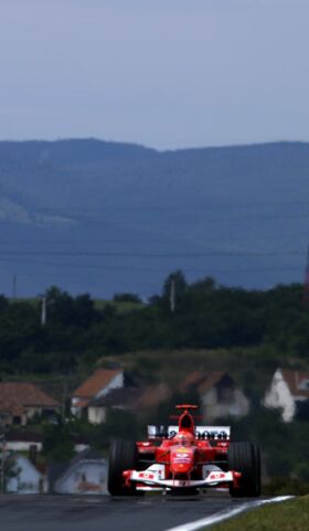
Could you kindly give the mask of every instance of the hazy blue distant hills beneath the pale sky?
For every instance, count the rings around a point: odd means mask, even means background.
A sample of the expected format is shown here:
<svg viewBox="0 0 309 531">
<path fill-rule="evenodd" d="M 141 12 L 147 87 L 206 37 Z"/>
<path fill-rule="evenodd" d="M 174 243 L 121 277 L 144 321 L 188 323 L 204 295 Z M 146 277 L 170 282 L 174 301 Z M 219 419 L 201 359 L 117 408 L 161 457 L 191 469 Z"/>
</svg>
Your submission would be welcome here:
<svg viewBox="0 0 309 531">
<path fill-rule="evenodd" d="M 166 276 L 301 282 L 309 145 L 159 152 L 95 139 L 0 142 L 0 291 L 56 284 L 96 297 Z"/>
</svg>

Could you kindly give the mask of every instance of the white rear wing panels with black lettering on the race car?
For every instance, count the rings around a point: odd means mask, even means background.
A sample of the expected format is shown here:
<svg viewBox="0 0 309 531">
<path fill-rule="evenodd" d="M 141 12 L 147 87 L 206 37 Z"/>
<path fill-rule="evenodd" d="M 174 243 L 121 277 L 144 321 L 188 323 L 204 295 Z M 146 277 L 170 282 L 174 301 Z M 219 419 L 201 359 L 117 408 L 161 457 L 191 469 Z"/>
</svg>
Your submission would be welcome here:
<svg viewBox="0 0 309 531">
<path fill-rule="evenodd" d="M 179 426 L 148 426 L 148 438 L 172 439 L 177 436 L 179 432 Z M 216 440 L 230 440 L 231 437 L 231 426 L 195 426 L 195 437 L 198 439 L 216 439 Z"/>
</svg>

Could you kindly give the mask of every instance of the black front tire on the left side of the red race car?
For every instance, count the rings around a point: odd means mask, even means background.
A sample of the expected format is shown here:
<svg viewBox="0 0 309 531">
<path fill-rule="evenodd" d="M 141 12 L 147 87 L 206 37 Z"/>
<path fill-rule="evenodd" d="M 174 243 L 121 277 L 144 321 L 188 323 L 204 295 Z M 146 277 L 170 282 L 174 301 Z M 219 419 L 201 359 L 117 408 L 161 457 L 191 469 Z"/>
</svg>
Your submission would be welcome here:
<svg viewBox="0 0 309 531">
<path fill-rule="evenodd" d="M 124 470 L 136 470 L 138 450 L 135 443 L 115 440 L 109 450 L 107 489 L 111 496 L 135 496 L 135 485 L 125 486 Z"/>
</svg>

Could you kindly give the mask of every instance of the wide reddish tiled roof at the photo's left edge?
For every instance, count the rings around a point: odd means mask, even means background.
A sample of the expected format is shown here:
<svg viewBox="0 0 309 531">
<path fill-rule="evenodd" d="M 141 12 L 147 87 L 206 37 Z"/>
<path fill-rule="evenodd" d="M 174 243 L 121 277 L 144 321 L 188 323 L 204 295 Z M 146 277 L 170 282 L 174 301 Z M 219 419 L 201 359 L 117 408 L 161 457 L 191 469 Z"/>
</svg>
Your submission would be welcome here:
<svg viewBox="0 0 309 531">
<path fill-rule="evenodd" d="M 0 411 L 21 415 L 26 407 L 57 407 L 58 403 L 33 383 L 0 382 Z"/>
</svg>

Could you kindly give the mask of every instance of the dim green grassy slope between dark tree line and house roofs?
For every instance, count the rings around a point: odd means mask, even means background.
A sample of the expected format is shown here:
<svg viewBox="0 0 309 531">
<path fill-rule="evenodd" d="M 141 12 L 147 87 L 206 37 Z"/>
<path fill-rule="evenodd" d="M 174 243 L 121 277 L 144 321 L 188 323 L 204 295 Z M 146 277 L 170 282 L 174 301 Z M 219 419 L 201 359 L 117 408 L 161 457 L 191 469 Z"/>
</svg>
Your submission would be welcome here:
<svg viewBox="0 0 309 531">
<path fill-rule="evenodd" d="M 164 382 L 179 389 L 190 372 L 226 371 L 248 395 L 264 396 L 277 367 L 309 370 L 306 360 L 289 360 L 263 347 L 234 349 L 145 350 L 108 354 L 98 364 L 119 363 L 127 371 L 137 371 L 150 383 Z M 309 531 L 309 529 L 308 529 Z"/>
</svg>

